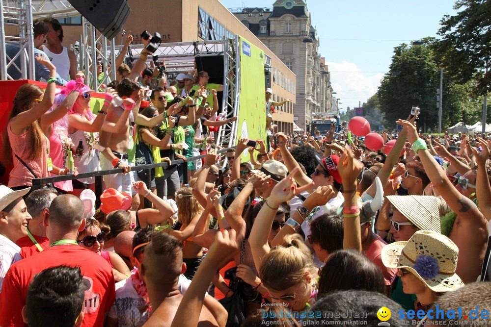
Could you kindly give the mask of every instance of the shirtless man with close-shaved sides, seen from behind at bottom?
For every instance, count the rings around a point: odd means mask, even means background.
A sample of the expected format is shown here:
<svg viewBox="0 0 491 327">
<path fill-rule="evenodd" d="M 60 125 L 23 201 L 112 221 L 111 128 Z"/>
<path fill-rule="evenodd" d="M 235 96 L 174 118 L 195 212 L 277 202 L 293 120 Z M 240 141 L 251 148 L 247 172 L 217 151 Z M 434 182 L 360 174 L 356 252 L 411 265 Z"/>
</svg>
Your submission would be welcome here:
<svg viewBox="0 0 491 327">
<path fill-rule="evenodd" d="M 179 275 L 185 271 L 181 241 L 165 233 L 156 234 L 145 248 L 140 267 L 140 274 L 147 285 L 148 297 L 154 311 L 144 326 L 160 327 L 172 324 L 183 299 L 177 287 Z M 214 311 L 212 313 L 203 306 L 198 326 L 224 326 L 224 310 L 219 310 L 218 307 Z"/>
</svg>

